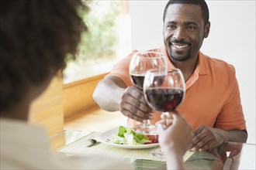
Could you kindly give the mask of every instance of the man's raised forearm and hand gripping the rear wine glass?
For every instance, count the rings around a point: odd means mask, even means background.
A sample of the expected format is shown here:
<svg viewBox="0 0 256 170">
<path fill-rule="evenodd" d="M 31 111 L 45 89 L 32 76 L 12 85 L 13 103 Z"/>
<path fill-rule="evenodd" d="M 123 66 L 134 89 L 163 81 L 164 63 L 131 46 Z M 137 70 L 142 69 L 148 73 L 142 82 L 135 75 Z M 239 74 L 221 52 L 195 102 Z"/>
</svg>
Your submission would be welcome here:
<svg viewBox="0 0 256 170">
<path fill-rule="evenodd" d="M 107 111 L 121 111 L 126 117 L 136 121 L 153 119 L 152 110 L 137 87 L 126 87 L 119 77 L 107 76 L 100 81 L 93 93 L 93 99 L 99 107 Z"/>
</svg>

